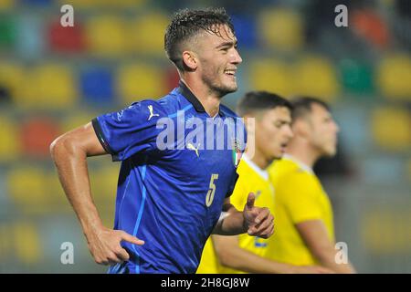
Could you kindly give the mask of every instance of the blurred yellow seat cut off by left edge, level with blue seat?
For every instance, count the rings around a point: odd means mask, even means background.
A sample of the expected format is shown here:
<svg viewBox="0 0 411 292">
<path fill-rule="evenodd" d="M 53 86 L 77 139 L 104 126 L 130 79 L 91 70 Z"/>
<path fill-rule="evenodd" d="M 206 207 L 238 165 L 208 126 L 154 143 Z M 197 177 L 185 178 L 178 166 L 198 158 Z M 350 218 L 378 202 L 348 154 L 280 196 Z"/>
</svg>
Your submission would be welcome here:
<svg viewBox="0 0 411 292">
<path fill-rule="evenodd" d="M 21 97 L 21 85 L 24 84 L 24 69 L 18 64 L 0 62 L 0 88 L 6 91 L 6 95 L 19 105 L 18 97 Z"/>
</svg>

